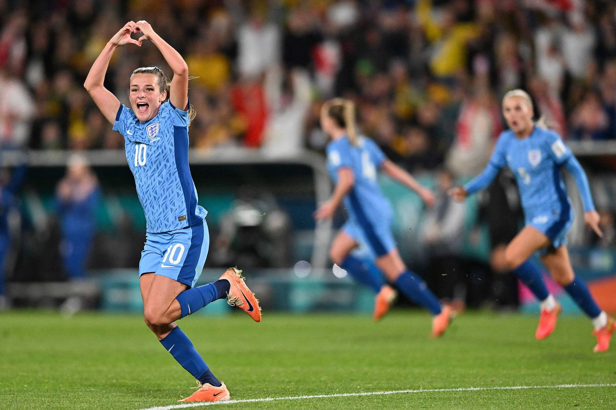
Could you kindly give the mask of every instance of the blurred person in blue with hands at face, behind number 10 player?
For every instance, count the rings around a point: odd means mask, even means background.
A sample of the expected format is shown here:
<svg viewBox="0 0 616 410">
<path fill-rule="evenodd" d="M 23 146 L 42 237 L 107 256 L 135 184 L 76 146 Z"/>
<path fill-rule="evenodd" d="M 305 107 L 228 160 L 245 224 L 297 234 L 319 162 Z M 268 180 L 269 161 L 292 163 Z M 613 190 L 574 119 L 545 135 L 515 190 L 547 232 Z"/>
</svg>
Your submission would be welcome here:
<svg viewBox="0 0 616 410">
<path fill-rule="evenodd" d="M 99 183 L 84 156 L 68 159 L 67 174 L 56 189 L 62 242 L 60 254 L 70 279 L 86 278 L 87 259 L 96 230 Z"/>
</svg>

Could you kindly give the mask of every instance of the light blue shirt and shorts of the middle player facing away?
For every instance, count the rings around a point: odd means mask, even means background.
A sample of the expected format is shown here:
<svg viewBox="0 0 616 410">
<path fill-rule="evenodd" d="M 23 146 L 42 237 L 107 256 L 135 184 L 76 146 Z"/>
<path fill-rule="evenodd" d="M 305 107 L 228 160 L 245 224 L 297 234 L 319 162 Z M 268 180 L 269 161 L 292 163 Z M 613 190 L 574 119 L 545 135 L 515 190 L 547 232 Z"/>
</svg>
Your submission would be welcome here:
<svg viewBox="0 0 616 410">
<path fill-rule="evenodd" d="M 395 247 L 391 233 L 394 212 L 377 180 L 378 169 L 386 157 L 372 140 L 359 137 L 358 142 L 355 147 L 344 136 L 328 143 L 327 169 L 334 183 L 338 182 L 339 169 L 349 167 L 353 172 L 355 183 L 344 197 L 349 221 L 343 230 L 379 257 Z"/>
</svg>

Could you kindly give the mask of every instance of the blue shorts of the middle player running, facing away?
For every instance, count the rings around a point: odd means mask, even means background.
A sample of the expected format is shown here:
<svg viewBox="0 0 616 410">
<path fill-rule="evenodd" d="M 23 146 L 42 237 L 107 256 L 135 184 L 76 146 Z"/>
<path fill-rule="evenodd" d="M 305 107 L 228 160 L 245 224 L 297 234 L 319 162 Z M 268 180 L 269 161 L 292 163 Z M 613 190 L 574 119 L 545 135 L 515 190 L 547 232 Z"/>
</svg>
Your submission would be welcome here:
<svg viewBox="0 0 616 410">
<path fill-rule="evenodd" d="M 395 239 L 391 232 L 391 220 L 389 219 L 383 220 L 382 223 L 358 223 L 347 220 L 341 229 L 362 245 L 373 259 L 395 249 Z"/>
</svg>

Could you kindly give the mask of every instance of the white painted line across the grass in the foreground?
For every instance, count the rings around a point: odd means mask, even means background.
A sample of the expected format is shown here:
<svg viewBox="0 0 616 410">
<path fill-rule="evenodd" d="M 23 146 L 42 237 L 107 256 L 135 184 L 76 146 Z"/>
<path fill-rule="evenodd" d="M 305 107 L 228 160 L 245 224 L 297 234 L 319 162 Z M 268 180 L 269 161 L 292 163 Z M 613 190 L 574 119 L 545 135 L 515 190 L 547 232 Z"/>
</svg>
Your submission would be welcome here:
<svg viewBox="0 0 616 410">
<path fill-rule="evenodd" d="M 395 395 L 395 394 L 401 394 L 401 393 L 477 392 L 480 390 L 525 390 L 529 388 L 576 388 L 576 387 L 616 387 L 616 384 L 557 384 L 557 385 L 551 385 L 551 386 L 459 387 L 459 388 L 426 388 L 426 389 L 419 389 L 419 390 L 389 390 L 387 392 L 339 393 L 339 394 L 333 394 L 333 395 L 266 397 L 266 398 L 245 399 L 245 400 L 227 400 L 227 401 L 200 401 L 197 403 L 173 404 L 171 406 L 150 407 L 150 408 L 141 409 L 141 410 L 171 410 L 171 409 L 183 409 L 183 408 L 188 408 L 188 407 L 213 406 L 214 404 L 257 403 L 259 401 L 302 400 L 302 399 L 325 398 L 325 397 L 376 396 L 376 395 Z"/>
</svg>

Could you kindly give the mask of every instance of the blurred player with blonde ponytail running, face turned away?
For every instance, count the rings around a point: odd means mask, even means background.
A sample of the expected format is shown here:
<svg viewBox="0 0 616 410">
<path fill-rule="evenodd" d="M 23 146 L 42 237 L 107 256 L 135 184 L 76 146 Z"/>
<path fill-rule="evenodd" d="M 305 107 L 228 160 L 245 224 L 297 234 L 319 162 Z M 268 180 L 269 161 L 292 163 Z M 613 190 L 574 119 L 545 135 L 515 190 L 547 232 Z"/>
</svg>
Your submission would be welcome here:
<svg viewBox="0 0 616 410">
<path fill-rule="evenodd" d="M 441 336 L 449 325 L 451 308 L 441 306 L 424 281 L 402 262 L 391 231 L 392 207 L 381 193 L 376 173 L 382 170 L 415 191 L 426 204 L 434 203 L 434 195 L 389 161 L 372 140 L 355 133 L 355 108 L 350 100 L 334 98 L 326 102 L 321 109 L 321 127 L 332 139 L 326 151 L 328 171 L 336 187 L 331 198 L 317 209 L 315 217 L 333 217 L 343 200 L 349 215 L 331 244 L 331 260 L 358 281 L 373 284 L 375 290 L 381 286 L 376 296 L 375 317 L 378 318 L 387 312 L 393 289 L 383 286 L 383 279 L 376 278 L 361 260 L 351 255 L 355 247 L 363 244 L 389 281 L 409 299 L 432 312 L 432 336 Z"/>
</svg>

